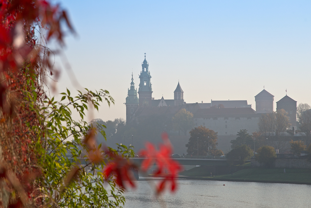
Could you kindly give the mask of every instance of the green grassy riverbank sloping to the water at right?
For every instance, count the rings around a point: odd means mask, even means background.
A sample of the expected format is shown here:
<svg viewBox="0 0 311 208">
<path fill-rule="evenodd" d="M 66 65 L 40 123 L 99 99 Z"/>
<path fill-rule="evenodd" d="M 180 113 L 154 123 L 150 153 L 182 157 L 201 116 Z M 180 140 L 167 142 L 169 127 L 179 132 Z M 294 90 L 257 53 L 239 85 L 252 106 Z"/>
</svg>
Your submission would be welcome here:
<svg viewBox="0 0 311 208">
<path fill-rule="evenodd" d="M 211 173 L 204 171 L 204 166 L 194 167 L 188 171 L 180 172 L 179 178 L 203 179 L 216 181 L 245 181 L 267 183 L 295 183 L 311 185 L 311 169 L 284 169 L 273 168 L 249 168 L 233 174 L 210 176 Z"/>
</svg>

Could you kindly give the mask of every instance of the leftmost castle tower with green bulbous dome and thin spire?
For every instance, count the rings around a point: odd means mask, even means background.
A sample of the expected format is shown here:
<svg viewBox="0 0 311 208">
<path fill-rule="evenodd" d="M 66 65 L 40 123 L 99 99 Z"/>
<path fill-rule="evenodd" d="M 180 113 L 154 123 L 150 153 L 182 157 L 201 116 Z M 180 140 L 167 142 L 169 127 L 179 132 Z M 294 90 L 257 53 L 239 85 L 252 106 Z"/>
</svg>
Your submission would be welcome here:
<svg viewBox="0 0 311 208">
<path fill-rule="evenodd" d="M 132 82 L 131 87 L 128 89 L 128 96 L 126 97 L 126 122 L 128 123 L 131 120 L 132 115 L 138 107 L 139 101 L 137 97 L 137 88 L 135 89 L 133 82 L 133 73 L 132 73 Z"/>
</svg>

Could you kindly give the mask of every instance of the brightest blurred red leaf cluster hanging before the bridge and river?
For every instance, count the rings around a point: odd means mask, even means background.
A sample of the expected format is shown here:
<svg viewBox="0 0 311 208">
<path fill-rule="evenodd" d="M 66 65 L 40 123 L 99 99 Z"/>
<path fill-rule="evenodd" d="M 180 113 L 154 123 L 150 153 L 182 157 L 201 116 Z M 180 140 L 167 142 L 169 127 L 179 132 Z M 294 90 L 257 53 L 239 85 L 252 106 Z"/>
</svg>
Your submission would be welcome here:
<svg viewBox="0 0 311 208">
<path fill-rule="evenodd" d="M 159 150 L 156 150 L 153 144 L 146 143 L 146 149 L 140 152 L 140 154 L 148 154 L 150 156 L 142 162 L 142 170 L 147 171 L 151 165 L 156 163 L 157 170 L 154 173 L 154 177 L 163 177 L 163 180 L 157 186 L 158 193 L 164 191 L 167 182 L 171 183 L 171 191 L 175 191 L 176 178 L 178 172 L 181 171 L 179 163 L 170 157 L 172 154 L 172 145 L 169 142 L 167 133 L 162 133 L 161 136 L 163 144 L 160 144 Z M 167 172 L 165 169 L 167 169 Z"/>
</svg>

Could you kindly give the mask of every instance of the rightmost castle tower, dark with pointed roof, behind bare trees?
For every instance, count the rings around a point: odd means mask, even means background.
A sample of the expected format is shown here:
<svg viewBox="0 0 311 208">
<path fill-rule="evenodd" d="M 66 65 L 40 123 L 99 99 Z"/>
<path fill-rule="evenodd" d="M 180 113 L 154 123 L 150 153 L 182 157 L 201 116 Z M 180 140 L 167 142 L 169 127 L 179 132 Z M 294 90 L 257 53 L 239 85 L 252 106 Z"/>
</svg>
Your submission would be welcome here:
<svg viewBox="0 0 311 208">
<path fill-rule="evenodd" d="M 285 95 L 282 99 L 276 102 L 276 110 L 284 109 L 289 118 L 290 129 L 293 127 L 297 130 L 296 113 L 297 101 Z"/>
</svg>

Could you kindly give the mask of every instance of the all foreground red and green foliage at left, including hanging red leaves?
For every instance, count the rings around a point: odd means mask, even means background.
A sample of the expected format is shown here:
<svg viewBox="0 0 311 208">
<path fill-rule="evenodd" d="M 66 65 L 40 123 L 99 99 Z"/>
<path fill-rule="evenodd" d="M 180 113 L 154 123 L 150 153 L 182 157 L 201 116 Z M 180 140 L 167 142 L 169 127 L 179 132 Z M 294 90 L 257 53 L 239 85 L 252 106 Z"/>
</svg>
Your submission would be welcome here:
<svg viewBox="0 0 311 208">
<path fill-rule="evenodd" d="M 136 166 L 128 161 L 134 152 L 125 145 L 117 149 L 97 145 L 95 135 L 105 137 L 104 126 L 84 120 L 89 109 L 98 110 L 103 101 L 110 106 L 114 99 L 102 89 L 83 89 L 76 96 L 67 89 L 60 101 L 46 92 L 46 85 L 55 88 L 49 78 L 59 75 L 52 56 L 64 45 L 63 26 L 73 31 L 67 12 L 49 0 L 2 1 L 0 11 L 1 208 L 124 206 L 124 181 L 134 186 L 129 170 Z M 51 51 L 48 42 L 58 43 L 51 48 L 59 50 Z M 72 112 L 78 120 L 72 119 Z M 147 148 L 157 156 L 152 161 L 159 167 L 157 174 L 164 173 L 161 167 L 169 167 L 158 192 L 166 181 L 174 190 L 180 170 L 169 157 L 167 136 L 163 140 L 160 151 Z M 81 157 L 86 164 L 80 163 Z M 160 163 L 157 158 L 162 158 Z M 150 167 L 147 162 L 145 171 Z M 93 172 L 86 172 L 86 166 Z"/>
</svg>

